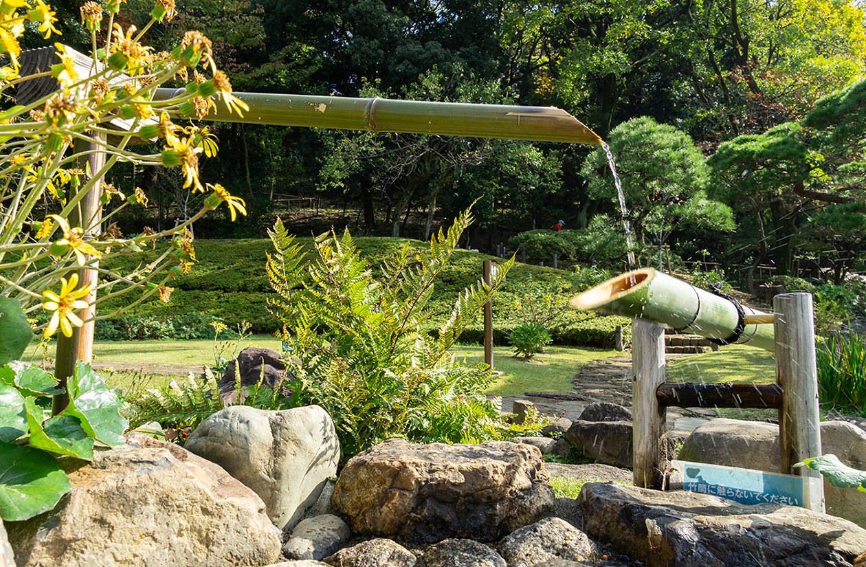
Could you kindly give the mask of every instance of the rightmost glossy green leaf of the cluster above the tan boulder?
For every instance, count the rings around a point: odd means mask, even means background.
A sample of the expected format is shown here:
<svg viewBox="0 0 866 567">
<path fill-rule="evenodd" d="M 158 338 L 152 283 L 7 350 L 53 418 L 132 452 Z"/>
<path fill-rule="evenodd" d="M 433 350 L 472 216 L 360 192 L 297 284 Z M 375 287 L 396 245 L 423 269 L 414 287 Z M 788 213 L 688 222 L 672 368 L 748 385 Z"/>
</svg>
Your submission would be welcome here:
<svg viewBox="0 0 866 567">
<path fill-rule="evenodd" d="M 81 427 L 97 441 L 106 445 L 123 445 L 123 432 L 129 422 L 120 416 L 123 402 L 105 382 L 98 377 L 90 364 L 81 361 L 75 364 L 74 376 L 68 381 L 69 405 L 62 416 L 75 416 Z"/>
</svg>

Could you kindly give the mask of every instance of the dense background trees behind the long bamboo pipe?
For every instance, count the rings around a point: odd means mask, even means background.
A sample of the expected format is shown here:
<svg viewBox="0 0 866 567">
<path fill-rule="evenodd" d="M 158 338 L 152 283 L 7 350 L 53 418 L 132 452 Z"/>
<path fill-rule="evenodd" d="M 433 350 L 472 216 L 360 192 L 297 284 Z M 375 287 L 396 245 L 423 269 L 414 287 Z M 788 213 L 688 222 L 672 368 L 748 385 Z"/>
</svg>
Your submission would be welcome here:
<svg viewBox="0 0 866 567">
<path fill-rule="evenodd" d="M 81 3 L 56 10 L 61 39 L 87 51 Z M 143 0 L 127 7 L 125 26 L 148 17 Z M 187 0 L 152 42 L 201 30 L 236 91 L 563 107 L 610 142 L 639 244 L 839 280 L 860 266 L 866 222 L 864 16 L 846 0 Z M 220 151 L 202 178 L 249 217 L 215 211 L 197 237 L 263 237 L 278 215 L 293 230 L 286 204 L 309 199 L 358 234 L 423 238 L 481 197 L 462 245 L 486 251 L 559 219 L 615 242 L 622 221 L 591 147 L 207 126 Z M 194 204 L 171 172 L 113 175 L 150 197 L 120 217 L 128 232 Z"/>
</svg>

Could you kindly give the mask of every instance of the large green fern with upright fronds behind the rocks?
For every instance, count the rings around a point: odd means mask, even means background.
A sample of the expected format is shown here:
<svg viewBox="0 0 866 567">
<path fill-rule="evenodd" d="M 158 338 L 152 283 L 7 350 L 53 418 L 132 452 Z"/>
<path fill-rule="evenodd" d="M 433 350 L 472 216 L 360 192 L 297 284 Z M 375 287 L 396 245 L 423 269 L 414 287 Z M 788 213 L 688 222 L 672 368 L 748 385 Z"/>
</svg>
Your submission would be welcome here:
<svg viewBox="0 0 866 567">
<path fill-rule="evenodd" d="M 436 338 L 424 331 L 436 278 L 471 223 L 469 209 L 430 247 L 404 247 L 385 262 L 380 278 L 359 257 L 352 235 L 314 239 L 301 248 L 277 220 L 268 231 L 268 279 L 277 293 L 270 309 L 293 346 L 287 370 L 296 406 L 318 404 L 333 417 L 344 459 L 389 436 L 410 441 L 476 441 L 501 428 L 498 404 L 484 396 L 493 381 L 483 364 L 468 366 L 449 353 L 491 298 L 514 259 L 489 286 L 465 289 Z M 306 277 L 305 277 L 306 276 Z"/>
</svg>

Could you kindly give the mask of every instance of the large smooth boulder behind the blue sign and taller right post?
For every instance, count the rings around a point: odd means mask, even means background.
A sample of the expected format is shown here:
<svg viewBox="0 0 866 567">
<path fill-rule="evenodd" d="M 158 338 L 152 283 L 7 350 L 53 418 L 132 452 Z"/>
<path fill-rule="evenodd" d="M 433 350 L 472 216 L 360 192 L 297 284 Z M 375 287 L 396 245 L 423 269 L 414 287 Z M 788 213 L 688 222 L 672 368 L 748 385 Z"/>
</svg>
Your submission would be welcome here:
<svg viewBox="0 0 866 567">
<path fill-rule="evenodd" d="M 821 422 L 821 446 L 824 454 L 835 454 L 849 467 L 866 470 L 866 431 L 854 423 Z M 714 419 L 688 436 L 680 459 L 778 473 L 779 426 Z M 832 486 L 824 480 L 824 502 L 828 514 L 866 527 L 866 493 Z"/>
</svg>

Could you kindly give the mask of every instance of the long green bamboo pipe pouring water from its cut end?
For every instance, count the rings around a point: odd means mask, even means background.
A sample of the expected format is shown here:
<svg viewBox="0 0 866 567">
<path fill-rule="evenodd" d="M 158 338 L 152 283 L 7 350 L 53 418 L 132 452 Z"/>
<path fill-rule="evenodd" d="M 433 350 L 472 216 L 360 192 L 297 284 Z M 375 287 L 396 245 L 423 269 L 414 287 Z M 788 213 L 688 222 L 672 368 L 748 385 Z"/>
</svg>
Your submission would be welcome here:
<svg viewBox="0 0 866 567">
<path fill-rule="evenodd" d="M 154 100 L 186 93 L 158 88 Z M 222 98 L 205 120 L 338 128 L 366 132 L 410 132 L 538 142 L 601 144 L 578 119 L 553 106 L 508 106 L 421 100 L 353 99 L 301 94 L 233 93 L 249 105 L 243 116 L 229 113 Z"/>
</svg>

